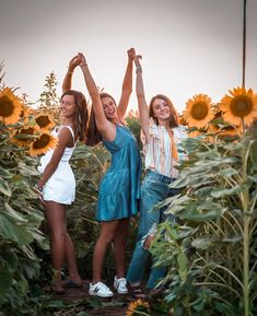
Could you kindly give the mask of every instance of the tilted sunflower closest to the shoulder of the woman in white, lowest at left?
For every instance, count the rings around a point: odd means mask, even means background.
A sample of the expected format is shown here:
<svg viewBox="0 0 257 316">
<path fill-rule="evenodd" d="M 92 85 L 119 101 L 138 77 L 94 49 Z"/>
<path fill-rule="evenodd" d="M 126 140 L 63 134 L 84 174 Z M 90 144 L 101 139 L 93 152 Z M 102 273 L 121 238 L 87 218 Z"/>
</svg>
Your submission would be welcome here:
<svg viewBox="0 0 257 316">
<path fill-rule="evenodd" d="M 46 153 L 49 149 L 54 149 L 58 143 L 58 139 L 49 132 L 42 133 L 35 141 L 31 143 L 30 155 L 36 156 Z"/>
</svg>

